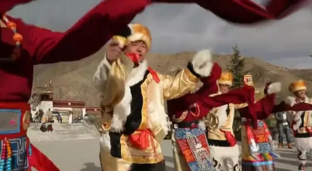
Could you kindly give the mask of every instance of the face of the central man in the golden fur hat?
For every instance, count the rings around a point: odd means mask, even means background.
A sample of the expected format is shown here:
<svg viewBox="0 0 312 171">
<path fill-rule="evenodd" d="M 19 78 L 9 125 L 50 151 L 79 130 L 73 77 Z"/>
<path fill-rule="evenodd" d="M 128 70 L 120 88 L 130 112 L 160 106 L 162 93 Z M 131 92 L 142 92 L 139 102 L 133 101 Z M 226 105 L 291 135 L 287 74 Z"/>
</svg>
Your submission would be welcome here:
<svg viewBox="0 0 312 171">
<path fill-rule="evenodd" d="M 126 46 L 125 52 L 137 53 L 140 56 L 138 62 L 142 62 L 145 59 L 145 55 L 148 50 L 146 44 L 143 41 L 135 41 Z"/>
</svg>

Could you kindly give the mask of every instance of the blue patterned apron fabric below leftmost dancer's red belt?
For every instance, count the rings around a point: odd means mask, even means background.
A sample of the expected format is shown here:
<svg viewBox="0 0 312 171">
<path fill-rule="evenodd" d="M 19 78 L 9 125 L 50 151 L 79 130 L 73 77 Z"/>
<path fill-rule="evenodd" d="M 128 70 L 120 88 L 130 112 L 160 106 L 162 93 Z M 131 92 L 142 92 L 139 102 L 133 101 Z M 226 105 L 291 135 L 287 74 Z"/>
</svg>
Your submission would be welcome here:
<svg viewBox="0 0 312 171">
<path fill-rule="evenodd" d="M 12 171 L 27 171 L 28 159 L 26 137 L 9 139 L 12 149 Z M 0 140 L 0 154 L 2 154 L 3 140 Z"/>
</svg>

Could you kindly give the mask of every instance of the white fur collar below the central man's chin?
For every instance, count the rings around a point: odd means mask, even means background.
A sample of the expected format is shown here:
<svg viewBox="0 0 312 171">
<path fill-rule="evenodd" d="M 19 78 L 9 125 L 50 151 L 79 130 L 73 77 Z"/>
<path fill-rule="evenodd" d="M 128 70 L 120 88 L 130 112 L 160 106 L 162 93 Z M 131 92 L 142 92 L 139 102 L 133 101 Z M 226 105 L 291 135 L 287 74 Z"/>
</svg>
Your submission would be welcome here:
<svg viewBox="0 0 312 171">
<path fill-rule="evenodd" d="M 137 68 L 133 68 L 131 70 L 128 79 L 126 80 L 126 85 L 132 86 L 140 82 L 144 77 L 146 69 L 147 69 L 147 61 L 144 60 Z"/>
</svg>

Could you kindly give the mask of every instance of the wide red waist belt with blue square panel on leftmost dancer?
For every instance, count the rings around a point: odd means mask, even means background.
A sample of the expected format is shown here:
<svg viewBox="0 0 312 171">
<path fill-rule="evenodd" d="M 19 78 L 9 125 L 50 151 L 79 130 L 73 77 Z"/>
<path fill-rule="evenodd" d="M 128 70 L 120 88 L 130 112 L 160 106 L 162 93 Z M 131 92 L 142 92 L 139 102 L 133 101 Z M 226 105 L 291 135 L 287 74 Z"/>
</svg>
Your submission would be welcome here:
<svg viewBox="0 0 312 171">
<path fill-rule="evenodd" d="M 30 116 L 27 102 L 0 102 L 0 140 L 26 136 Z"/>
</svg>

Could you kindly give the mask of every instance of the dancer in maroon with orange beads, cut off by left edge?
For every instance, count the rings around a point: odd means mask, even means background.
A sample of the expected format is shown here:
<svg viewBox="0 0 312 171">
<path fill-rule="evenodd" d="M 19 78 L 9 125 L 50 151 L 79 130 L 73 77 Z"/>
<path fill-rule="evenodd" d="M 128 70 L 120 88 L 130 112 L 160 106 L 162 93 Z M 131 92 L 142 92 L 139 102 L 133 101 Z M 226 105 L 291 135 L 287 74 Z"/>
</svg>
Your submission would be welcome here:
<svg viewBox="0 0 312 171">
<path fill-rule="evenodd" d="M 17 0 L 1 0 L 0 168 L 26 171 L 33 166 L 38 171 L 59 171 L 27 137 L 31 115 L 27 102 L 31 95 L 33 66 L 76 61 L 97 52 L 110 39 L 110 34 L 119 33 L 134 17 L 122 18 L 129 14 L 127 6 L 119 7 L 126 10 L 119 13 L 121 16 L 112 14 L 114 12 L 107 10 L 112 1 L 103 0 L 68 31 L 60 33 L 5 15 Z M 118 22 L 113 24 L 113 21 Z M 108 23 L 110 28 L 107 28 Z"/>
</svg>

